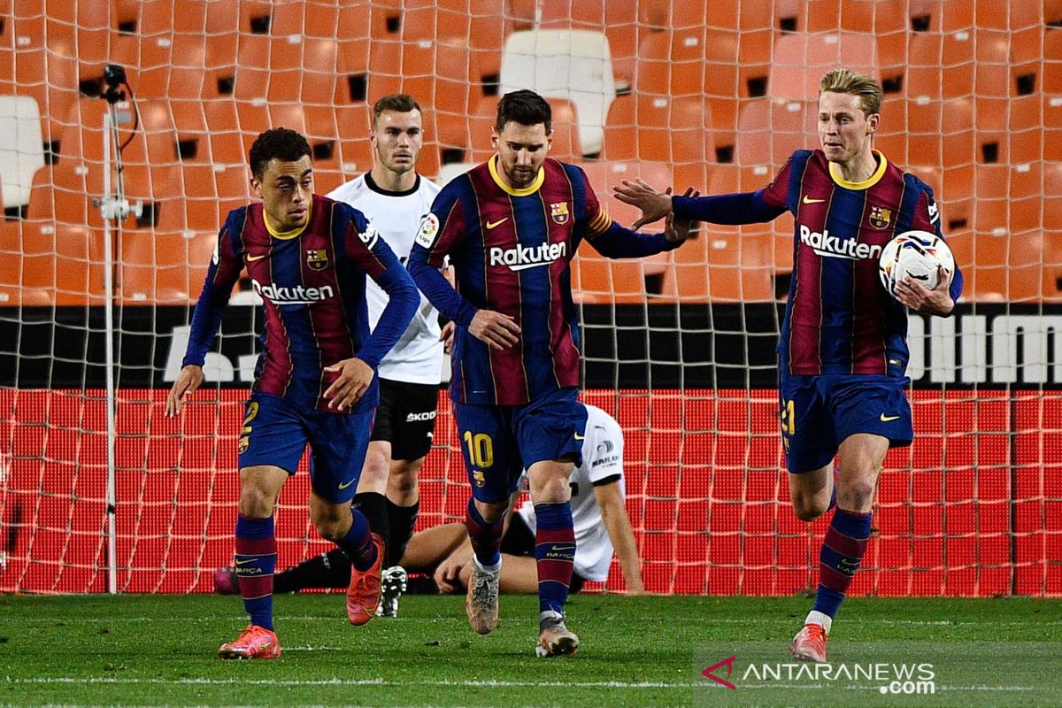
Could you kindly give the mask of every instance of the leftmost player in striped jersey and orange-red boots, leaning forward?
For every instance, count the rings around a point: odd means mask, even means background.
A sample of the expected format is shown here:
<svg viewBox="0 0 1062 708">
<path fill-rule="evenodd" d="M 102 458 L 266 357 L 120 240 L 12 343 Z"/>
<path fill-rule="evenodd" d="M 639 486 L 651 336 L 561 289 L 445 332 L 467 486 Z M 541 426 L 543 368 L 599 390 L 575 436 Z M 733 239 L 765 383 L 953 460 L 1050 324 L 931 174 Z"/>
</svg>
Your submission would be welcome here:
<svg viewBox="0 0 1062 708">
<path fill-rule="evenodd" d="M 181 413 L 203 382 L 203 361 L 240 271 L 246 267 L 266 313 L 262 352 L 240 429 L 236 568 L 251 624 L 222 644 L 223 659 L 280 655 L 273 629 L 280 487 L 310 445 L 310 519 L 361 573 L 347 590 L 347 617 L 363 624 L 380 595 L 382 542 L 350 499 L 378 399 L 376 366 L 417 306 L 416 288 L 361 212 L 313 194 L 310 145 L 287 128 L 251 146 L 251 185 L 261 203 L 233 210 L 218 236 L 192 316 L 184 367 L 166 403 Z M 369 333 L 365 276 L 390 301 Z"/>
</svg>

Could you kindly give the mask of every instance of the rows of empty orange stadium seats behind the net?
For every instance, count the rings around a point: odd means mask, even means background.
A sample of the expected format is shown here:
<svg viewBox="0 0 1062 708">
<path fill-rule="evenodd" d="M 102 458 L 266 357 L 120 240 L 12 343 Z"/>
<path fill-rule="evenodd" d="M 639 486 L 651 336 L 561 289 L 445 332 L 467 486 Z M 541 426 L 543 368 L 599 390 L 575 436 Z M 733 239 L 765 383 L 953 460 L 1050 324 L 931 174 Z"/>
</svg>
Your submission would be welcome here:
<svg viewBox="0 0 1062 708">
<path fill-rule="evenodd" d="M 875 146 L 936 180 L 945 230 L 983 266 L 974 296 L 1057 296 L 1062 227 L 1046 205 L 1062 189 L 1059 0 L 17 0 L 0 2 L 0 96 L 32 99 L 39 126 L 18 131 L 32 167 L 17 182 L 0 158 L 0 193 L 8 215 L 64 235 L 102 227 L 92 200 L 105 103 L 95 97 L 108 62 L 126 67 L 139 114 L 120 111 L 124 188 L 153 213 L 124 227 L 174 239 L 216 231 L 250 198 L 246 150 L 268 127 L 308 135 L 319 191 L 367 170 L 370 107 L 397 90 L 424 106 L 429 176 L 487 157 L 496 93 L 531 87 L 553 105 L 554 157 L 664 162 L 680 189 L 743 189 L 756 168 L 766 184 L 793 149 L 817 143 L 819 77 L 844 64 L 887 82 Z M 722 275 L 737 238 L 725 229 L 704 230 L 667 272 L 607 264 L 605 277 L 593 258 L 580 270 L 594 287 L 628 283 L 632 298 L 648 273 L 668 296 L 770 299 L 758 264 L 785 271 L 791 254 L 782 226 L 753 231 L 740 240 L 740 281 Z M 683 282 L 697 258 L 703 277 Z M 173 301 L 188 289 L 141 286 Z"/>
</svg>

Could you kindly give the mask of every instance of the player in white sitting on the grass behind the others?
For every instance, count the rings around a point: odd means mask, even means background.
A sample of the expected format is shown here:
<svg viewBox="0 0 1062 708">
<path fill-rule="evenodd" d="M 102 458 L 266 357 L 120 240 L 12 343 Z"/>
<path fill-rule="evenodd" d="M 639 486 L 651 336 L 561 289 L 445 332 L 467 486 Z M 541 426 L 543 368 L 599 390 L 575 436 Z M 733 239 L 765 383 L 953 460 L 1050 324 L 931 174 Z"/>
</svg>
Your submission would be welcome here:
<svg viewBox="0 0 1062 708">
<path fill-rule="evenodd" d="M 571 476 L 571 520 L 576 533 L 570 592 L 578 592 L 586 581 L 609 577 L 613 551 L 627 583 L 628 594 L 644 594 L 641 566 L 623 504 L 623 434 L 615 418 L 595 405 L 586 405 L 586 436 L 583 464 Z M 516 493 L 515 501 L 519 496 Z M 537 592 L 538 574 L 534 560 L 534 534 L 537 519 L 534 504 L 524 504 L 507 519 L 501 537 L 500 592 Z M 472 573 L 472 545 L 463 523 L 444 523 L 413 535 L 401 566 L 406 570 L 433 573 L 432 592 L 464 590 Z M 293 568 L 277 573 L 276 592 L 295 592 L 305 588 L 333 588 L 346 585 L 350 562 L 333 549 Z M 215 571 L 215 589 L 222 594 L 239 592 L 236 568 Z"/>
</svg>

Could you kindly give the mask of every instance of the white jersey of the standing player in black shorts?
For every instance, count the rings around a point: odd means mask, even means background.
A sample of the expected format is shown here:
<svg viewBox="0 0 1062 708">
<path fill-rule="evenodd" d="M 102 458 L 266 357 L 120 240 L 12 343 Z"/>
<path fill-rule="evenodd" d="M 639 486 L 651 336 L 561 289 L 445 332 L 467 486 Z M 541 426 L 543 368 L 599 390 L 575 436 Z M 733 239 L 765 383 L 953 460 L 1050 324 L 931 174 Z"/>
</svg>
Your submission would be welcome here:
<svg viewBox="0 0 1062 708">
<path fill-rule="evenodd" d="M 405 263 L 413 249 L 421 219 L 431 211 L 431 203 L 438 193 L 439 187 L 421 175 L 416 176 L 416 184 L 408 192 L 389 192 L 378 187 L 366 172 L 340 185 L 328 196 L 346 202 L 365 214 L 373 228 Z M 369 326 L 375 329 L 380 313 L 387 307 L 388 295 L 372 278 L 365 278 L 365 301 L 369 304 Z M 421 307 L 413 321 L 380 362 L 380 378 L 438 385 L 443 370 L 443 343 L 439 341 L 439 311 L 422 293 Z"/>
</svg>

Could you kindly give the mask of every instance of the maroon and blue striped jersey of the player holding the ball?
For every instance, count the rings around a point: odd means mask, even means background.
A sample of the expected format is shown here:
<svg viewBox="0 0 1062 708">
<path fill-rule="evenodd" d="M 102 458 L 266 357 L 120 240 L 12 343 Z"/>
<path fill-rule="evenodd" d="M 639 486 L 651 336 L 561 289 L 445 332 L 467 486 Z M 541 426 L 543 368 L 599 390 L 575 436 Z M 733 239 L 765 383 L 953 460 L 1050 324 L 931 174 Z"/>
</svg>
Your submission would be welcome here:
<svg viewBox="0 0 1062 708">
<path fill-rule="evenodd" d="M 676 218 L 725 224 L 795 218 L 793 272 L 778 364 L 792 375 L 890 374 L 907 368 L 907 308 L 881 287 L 878 258 L 892 238 L 940 231 L 932 190 L 875 151 L 877 170 L 845 180 L 821 150 L 792 154 L 756 192 L 674 197 Z M 952 299 L 962 292 L 956 269 Z"/>
</svg>

